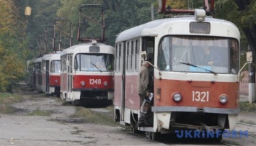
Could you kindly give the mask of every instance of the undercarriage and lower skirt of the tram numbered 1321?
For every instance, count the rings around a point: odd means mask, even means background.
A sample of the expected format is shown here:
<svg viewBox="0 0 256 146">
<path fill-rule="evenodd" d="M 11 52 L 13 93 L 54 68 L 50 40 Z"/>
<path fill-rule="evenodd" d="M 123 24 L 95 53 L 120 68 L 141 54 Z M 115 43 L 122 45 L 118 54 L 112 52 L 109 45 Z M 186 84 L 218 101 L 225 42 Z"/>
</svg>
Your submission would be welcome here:
<svg viewBox="0 0 256 146">
<path fill-rule="evenodd" d="M 152 127 L 137 127 L 139 111 L 125 109 L 124 119 L 120 120 L 120 110 L 115 108 L 115 120 L 131 127 L 132 132 L 144 131 L 147 137 L 154 139 L 156 134 L 167 134 L 180 130 L 223 132 L 224 129 L 234 130 L 238 114 L 216 114 L 204 112 L 180 112 L 180 111 L 154 111 L 154 125 Z M 130 114 L 128 114 L 130 113 Z M 130 119 L 130 121 L 128 120 Z M 221 138 L 221 136 L 220 136 Z"/>
</svg>

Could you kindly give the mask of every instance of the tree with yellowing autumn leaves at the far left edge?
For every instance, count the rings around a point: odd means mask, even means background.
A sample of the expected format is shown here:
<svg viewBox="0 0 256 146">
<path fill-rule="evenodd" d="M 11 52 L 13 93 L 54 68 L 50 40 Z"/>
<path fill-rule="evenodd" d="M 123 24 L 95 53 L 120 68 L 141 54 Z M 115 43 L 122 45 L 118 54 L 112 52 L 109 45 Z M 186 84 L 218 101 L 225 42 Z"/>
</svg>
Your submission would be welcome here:
<svg viewBox="0 0 256 146">
<path fill-rule="evenodd" d="M 19 38 L 23 27 L 17 25 L 16 13 L 11 0 L 0 0 L 0 91 L 11 88 L 24 74 L 24 60 L 20 60 L 24 57 L 21 49 L 24 44 Z"/>
</svg>

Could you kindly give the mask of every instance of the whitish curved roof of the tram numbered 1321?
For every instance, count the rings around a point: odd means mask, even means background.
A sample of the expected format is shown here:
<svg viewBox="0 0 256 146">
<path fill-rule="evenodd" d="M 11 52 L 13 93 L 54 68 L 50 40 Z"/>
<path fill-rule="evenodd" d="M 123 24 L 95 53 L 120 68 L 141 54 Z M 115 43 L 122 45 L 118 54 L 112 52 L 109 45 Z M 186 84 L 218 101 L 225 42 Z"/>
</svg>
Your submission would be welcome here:
<svg viewBox="0 0 256 146">
<path fill-rule="evenodd" d="M 120 32 L 120 34 L 118 34 L 118 37 L 116 37 L 115 42 L 123 42 L 125 40 L 131 40 L 136 37 L 156 36 L 158 33 L 162 32 L 162 30 L 159 29 L 159 27 L 161 25 L 167 24 L 169 22 L 171 22 L 172 24 L 175 24 L 175 23 L 180 24 L 180 22 L 182 22 L 182 24 L 184 24 L 184 22 L 188 22 L 188 25 L 189 25 L 190 22 L 196 22 L 196 20 L 193 15 L 172 17 L 172 18 L 166 18 L 166 19 L 156 19 L 151 22 L 147 22 L 145 24 L 141 24 L 136 27 L 126 29 L 123 32 Z M 231 29 L 231 30 L 236 29 L 236 31 L 239 32 L 236 25 L 234 25 L 233 23 L 231 23 L 229 21 L 223 20 L 223 19 L 206 17 L 204 22 L 225 23 L 225 24 L 227 24 L 227 26 L 229 26 L 229 29 Z M 179 27 L 184 27 L 184 25 L 179 26 Z M 182 28 L 180 28 L 180 29 L 182 29 Z M 230 32 L 231 32 L 231 30 L 230 30 Z M 180 32 L 182 32 L 182 31 L 180 31 Z M 182 33 L 184 33 L 184 31 Z M 180 34 L 177 33 L 176 35 L 182 35 L 182 33 L 180 33 Z M 219 33 L 210 34 L 210 35 L 219 36 L 217 34 L 219 34 Z M 175 35 L 175 34 L 173 34 L 173 35 Z M 189 35 L 189 34 L 187 33 L 184 35 Z M 193 34 L 191 34 L 191 35 L 193 35 Z M 202 34 L 200 34 L 200 35 L 202 35 Z"/>
</svg>

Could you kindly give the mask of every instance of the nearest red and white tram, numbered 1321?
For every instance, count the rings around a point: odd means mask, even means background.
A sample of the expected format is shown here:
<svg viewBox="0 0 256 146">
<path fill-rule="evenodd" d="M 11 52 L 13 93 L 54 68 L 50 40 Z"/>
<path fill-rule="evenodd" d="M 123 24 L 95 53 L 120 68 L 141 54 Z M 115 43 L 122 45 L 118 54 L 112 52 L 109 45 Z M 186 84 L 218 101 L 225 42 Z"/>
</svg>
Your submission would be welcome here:
<svg viewBox="0 0 256 146">
<path fill-rule="evenodd" d="M 203 9 L 120 32 L 115 40 L 115 120 L 152 139 L 175 129 L 233 130 L 239 114 L 239 41 L 234 24 L 206 17 Z M 204 48 L 219 60 L 211 60 Z M 154 124 L 137 127 L 138 73 L 149 56 Z"/>
</svg>

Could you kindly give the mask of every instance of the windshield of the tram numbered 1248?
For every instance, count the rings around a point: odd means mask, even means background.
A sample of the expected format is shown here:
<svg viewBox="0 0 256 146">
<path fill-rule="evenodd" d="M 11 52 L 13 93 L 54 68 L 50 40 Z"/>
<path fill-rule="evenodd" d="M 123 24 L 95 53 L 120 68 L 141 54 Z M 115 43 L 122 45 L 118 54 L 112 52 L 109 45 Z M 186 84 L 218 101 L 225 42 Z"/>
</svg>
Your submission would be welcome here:
<svg viewBox="0 0 256 146">
<path fill-rule="evenodd" d="M 78 54 L 75 58 L 75 70 L 79 71 L 113 71 L 112 54 Z"/>
</svg>

